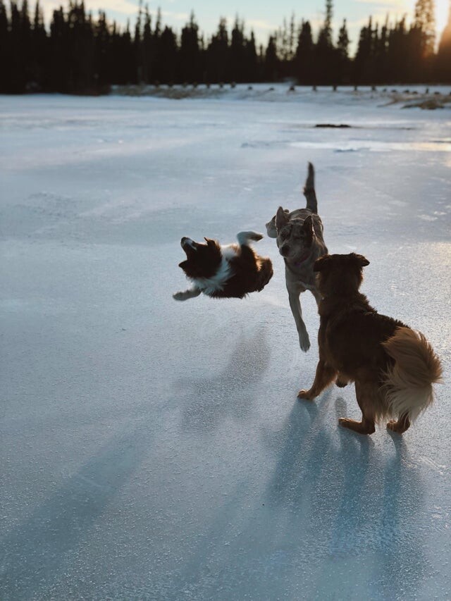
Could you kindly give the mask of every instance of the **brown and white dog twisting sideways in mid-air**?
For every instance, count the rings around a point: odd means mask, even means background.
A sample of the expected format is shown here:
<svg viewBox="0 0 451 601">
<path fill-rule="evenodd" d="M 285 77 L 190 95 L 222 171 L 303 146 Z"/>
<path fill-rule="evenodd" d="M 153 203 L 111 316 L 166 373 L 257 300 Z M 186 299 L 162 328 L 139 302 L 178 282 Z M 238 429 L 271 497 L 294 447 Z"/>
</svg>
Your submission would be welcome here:
<svg viewBox="0 0 451 601">
<path fill-rule="evenodd" d="M 183 237 L 180 244 L 187 258 L 179 267 L 192 281 L 192 287 L 175 292 L 173 298 L 185 301 L 203 292 L 213 298 L 242 299 L 250 292 L 263 290 L 273 276 L 273 265 L 271 259 L 259 256 L 251 247 L 262 237 L 256 232 L 240 232 L 237 244 L 227 246 L 209 238 L 204 238 L 204 244 Z"/>
</svg>

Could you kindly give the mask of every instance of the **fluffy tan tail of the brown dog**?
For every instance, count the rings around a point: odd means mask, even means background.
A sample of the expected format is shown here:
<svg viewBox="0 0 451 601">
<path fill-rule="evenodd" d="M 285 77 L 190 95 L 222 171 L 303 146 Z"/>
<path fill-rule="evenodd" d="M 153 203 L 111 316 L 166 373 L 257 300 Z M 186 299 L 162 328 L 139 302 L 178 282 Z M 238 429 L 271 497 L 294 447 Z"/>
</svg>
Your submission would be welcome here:
<svg viewBox="0 0 451 601">
<path fill-rule="evenodd" d="M 390 413 L 414 421 L 433 402 L 432 385 L 442 381 L 440 360 L 426 337 L 410 328 L 397 328 L 383 347 L 395 360 L 383 385 Z"/>
</svg>

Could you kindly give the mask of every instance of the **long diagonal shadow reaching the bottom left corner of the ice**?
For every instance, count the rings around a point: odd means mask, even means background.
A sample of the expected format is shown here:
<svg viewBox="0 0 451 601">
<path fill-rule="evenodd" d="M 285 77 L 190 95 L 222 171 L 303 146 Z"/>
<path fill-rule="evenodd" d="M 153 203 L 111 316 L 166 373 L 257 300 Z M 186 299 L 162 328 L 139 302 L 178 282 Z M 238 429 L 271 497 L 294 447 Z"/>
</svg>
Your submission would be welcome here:
<svg viewBox="0 0 451 601">
<path fill-rule="evenodd" d="M 150 444 L 147 423 L 111 440 L 1 540 L 2 599 L 45 598 L 39 588 L 51 585 L 66 554 L 99 519 Z"/>
</svg>

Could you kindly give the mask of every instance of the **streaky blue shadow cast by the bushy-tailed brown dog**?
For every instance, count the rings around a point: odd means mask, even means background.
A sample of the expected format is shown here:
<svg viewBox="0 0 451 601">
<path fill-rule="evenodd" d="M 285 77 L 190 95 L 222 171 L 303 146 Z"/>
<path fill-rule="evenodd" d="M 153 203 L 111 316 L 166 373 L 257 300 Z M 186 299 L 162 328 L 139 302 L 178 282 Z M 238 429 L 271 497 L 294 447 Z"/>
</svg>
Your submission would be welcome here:
<svg viewBox="0 0 451 601">
<path fill-rule="evenodd" d="M 324 428 L 334 396 L 329 389 L 319 402 L 292 408 L 267 494 L 279 511 L 288 509 L 286 535 L 299 540 L 299 552 L 344 560 L 355 578 L 361 572 L 369 595 L 397 598 L 406 582 L 415 590 L 427 571 L 416 523 L 424 497 L 419 471 L 399 435 L 387 433 L 393 452 L 381 453 L 370 436 Z M 347 414 L 342 397 L 335 413 Z M 315 585 L 320 597 L 330 584 L 324 576 Z"/>
</svg>

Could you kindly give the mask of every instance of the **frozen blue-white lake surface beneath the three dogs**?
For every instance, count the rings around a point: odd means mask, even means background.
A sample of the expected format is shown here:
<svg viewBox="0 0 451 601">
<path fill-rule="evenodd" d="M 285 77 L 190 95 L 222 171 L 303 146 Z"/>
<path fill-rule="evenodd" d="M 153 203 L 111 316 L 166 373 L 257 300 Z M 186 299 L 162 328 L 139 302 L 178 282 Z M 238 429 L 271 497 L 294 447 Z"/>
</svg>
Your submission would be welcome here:
<svg viewBox="0 0 451 601">
<path fill-rule="evenodd" d="M 450 599 L 451 111 L 243 96 L 0 97 L 2 600 Z M 330 252 L 443 360 L 402 438 L 297 400 L 319 318 L 304 354 L 274 240 L 263 292 L 171 298 L 180 237 L 265 233 L 307 161 Z"/>
</svg>

